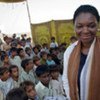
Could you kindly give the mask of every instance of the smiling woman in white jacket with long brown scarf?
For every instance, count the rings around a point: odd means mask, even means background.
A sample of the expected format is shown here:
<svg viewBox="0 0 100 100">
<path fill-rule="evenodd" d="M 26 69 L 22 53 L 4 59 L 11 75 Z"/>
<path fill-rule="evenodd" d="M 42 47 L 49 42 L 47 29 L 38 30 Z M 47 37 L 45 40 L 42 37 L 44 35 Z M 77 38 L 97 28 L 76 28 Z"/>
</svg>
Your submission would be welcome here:
<svg viewBox="0 0 100 100">
<path fill-rule="evenodd" d="M 100 38 L 96 36 L 99 14 L 91 5 L 81 5 L 74 13 L 78 41 L 64 53 L 63 83 L 68 100 L 99 100 Z"/>
</svg>

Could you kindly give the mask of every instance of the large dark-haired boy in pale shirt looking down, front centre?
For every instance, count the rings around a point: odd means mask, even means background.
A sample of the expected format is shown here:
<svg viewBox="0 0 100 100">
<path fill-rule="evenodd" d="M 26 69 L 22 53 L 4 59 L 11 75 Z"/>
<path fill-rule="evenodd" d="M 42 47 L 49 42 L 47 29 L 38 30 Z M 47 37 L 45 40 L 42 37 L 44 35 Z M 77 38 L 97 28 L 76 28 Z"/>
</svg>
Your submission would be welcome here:
<svg viewBox="0 0 100 100">
<path fill-rule="evenodd" d="M 54 83 L 51 81 L 47 65 L 38 66 L 36 75 L 39 79 L 39 83 L 36 85 L 35 89 L 40 100 L 44 100 L 47 97 L 50 98 L 62 95 L 58 84 L 54 86 Z"/>
</svg>

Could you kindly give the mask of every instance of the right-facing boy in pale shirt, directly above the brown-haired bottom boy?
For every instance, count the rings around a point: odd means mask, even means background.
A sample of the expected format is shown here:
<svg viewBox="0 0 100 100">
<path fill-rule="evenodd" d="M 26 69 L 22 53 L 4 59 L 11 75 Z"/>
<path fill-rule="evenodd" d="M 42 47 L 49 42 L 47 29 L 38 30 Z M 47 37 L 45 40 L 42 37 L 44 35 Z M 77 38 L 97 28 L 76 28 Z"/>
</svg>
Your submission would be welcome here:
<svg viewBox="0 0 100 100">
<path fill-rule="evenodd" d="M 24 69 L 21 73 L 21 82 L 29 80 L 36 83 L 35 75 L 33 73 L 33 61 L 31 59 L 24 59 L 22 60 L 21 66 Z"/>
</svg>

